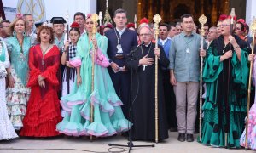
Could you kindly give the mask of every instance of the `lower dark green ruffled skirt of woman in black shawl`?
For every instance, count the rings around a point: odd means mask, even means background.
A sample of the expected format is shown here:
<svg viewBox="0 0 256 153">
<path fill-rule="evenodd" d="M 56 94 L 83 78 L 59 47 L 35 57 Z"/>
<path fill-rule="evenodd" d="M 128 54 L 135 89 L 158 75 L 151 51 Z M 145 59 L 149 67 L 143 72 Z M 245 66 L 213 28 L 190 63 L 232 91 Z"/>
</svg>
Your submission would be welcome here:
<svg viewBox="0 0 256 153">
<path fill-rule="evenodd" d="M 228 145 L 230 148 L 240 148 L 244 117 L 246 116 L 247 101 L 241 100 L 241 105 L 230 105 L 230 132 Z M 213 147 L 225 147 L 224 125 L 226 116 L 222 116 L 223 125 L 219 125 L 218 106 L 208 101 L 203 105 L 203 122 L 201 143 Z"/>
</svg>

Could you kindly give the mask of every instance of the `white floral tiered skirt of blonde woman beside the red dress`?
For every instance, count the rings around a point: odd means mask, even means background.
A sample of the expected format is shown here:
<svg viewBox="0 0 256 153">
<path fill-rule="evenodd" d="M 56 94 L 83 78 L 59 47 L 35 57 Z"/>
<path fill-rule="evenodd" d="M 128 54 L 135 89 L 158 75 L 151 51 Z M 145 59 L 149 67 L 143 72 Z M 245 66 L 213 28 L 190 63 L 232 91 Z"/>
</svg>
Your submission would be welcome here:
<svg viewBox="0 0 256 153">
<path fill-rule="evenodd" d="M 26 114 L 26 104 L 29 99 L 30 88 L 26 88 L 26 85 L 21 82 L 15 73 L 15 69 L 12 68 L 11 73 L 15 80 L 15 87 L 6 89 L 6 103 L 10 121 L 15 130 L 20 130 L 23 127 L 22 120 Z"/>
</svg>

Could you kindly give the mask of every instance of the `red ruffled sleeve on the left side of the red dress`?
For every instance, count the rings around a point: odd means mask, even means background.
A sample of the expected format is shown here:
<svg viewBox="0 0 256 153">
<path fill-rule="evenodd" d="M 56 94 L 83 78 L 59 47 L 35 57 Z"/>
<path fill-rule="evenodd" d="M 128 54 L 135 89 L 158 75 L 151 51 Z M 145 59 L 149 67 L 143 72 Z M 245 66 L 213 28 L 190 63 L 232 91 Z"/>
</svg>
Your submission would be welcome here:
<svg viewBox="0 0 256 153">
<path fill-rule="evenodd" d="M 27 87 L 37 86 L 38 85 L 38 76 L 40 75 L 41 71 L 35 66 L 35 54 L 36 47 L 33 46 L 29 50 L 28 54 L 28 66 L 29 66 L 29 80 L 27 82 Z"/>
</svg>

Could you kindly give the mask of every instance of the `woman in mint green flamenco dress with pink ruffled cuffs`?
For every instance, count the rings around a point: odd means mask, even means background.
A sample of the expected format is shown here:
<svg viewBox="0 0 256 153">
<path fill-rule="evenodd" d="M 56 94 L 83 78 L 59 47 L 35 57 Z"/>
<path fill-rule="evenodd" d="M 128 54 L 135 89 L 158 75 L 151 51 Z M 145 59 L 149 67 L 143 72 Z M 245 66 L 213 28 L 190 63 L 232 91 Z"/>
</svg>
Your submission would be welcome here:
<svg viewBox="0 0 256 153">
<path fill-rule="evenodd" d="M 90 15 L 85 20 L 86 32 L 77 45 L 77 56 L 69 61 L 77 67 L 76 84 L 71 94 L 61 98 L 62 108 L 67 111 L 57 130 L 70 136 L 96 137 L 112 136 L 129 129 L 130 122 L 125 119 L 120 105 L 122 102 L 115 93 L 109 77 L 109 64 L 106 54 L 107 37 L 96 33 L 92 36 L 93 22 Z M 94 90 L 91 91 L 91 51 L 95 48 Z M 90 122 L 90 105 L 94 106 L 94 120 Z"/>
</svg>

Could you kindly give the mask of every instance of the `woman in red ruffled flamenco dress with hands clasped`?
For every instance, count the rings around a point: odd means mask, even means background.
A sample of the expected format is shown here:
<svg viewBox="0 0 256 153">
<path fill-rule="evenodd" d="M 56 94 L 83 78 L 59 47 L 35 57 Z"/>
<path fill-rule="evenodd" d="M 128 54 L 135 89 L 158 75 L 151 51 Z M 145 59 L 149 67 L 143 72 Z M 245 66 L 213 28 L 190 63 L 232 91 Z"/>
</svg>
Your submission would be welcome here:
<svg viewBox="0 0 256 153">
<path fill-rule="evenodd" d="M 38 45 L 29 51 L 29 81 L 31 95 L 24 117 L 20 136 L 57 136 L 56 124 L 61 122 L 60 100 L 57 96 L 59 82 L 57 71 L 60 51 L 53 45 L 54 31 L 49 26 L 40 26 Z"/>
</svg>

